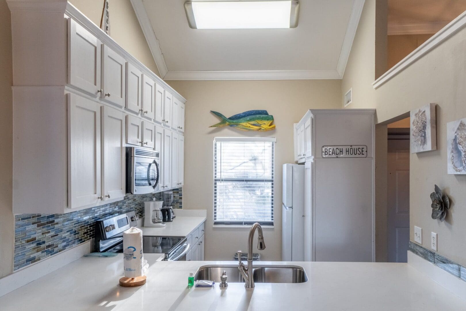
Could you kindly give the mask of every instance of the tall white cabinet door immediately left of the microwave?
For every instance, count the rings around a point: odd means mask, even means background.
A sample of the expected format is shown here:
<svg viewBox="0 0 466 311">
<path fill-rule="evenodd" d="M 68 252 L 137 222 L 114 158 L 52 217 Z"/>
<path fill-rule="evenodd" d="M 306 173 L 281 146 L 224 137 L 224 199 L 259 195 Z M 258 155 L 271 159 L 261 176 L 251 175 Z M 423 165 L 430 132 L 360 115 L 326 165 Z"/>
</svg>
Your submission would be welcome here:
<svg viewBox="0 0 466 311">
<path fill-rule="evenodd" d="M 125 183 L 125 115 L 102 106 L 102 194 L 103 200 L 123 198 Z"/>
</svg>

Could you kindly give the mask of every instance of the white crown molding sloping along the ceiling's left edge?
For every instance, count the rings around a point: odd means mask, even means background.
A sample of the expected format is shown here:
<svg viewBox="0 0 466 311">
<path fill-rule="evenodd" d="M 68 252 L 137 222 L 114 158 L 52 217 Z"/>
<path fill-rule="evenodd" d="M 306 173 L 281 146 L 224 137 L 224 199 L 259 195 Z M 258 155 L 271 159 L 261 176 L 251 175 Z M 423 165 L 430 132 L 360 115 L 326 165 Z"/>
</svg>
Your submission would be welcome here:
<svg viewBox="0 0 466 311">
<path fill-rule="evenodd" d="M 158 44 L 157 37 L 155 36 L 154 29 L 152 28 L 149 16 L 147 16 L 146 9 L 142 0 L 130 0 L 133 6 L 134 13 L 136 14 L 139 25 L 143 31 L 144 37 L 146 38 L 149 49 L 151 50 L 152 57 L 154 58 L 158 72 L 162 79 L 168 72 L 167 65 L 165 63 L 164 55 Z"/>
</svg>

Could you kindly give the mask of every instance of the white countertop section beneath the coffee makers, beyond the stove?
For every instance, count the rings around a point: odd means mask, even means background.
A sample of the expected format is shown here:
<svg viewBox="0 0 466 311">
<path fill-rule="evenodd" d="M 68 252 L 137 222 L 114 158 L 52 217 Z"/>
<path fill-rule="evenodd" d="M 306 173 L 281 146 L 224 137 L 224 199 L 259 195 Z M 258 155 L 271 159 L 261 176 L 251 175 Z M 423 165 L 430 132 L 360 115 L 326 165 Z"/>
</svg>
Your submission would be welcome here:
<svg viewBox="0 0 466 311">
<path fill-rule="evenodd" d="M 144 227 L 141 225 L 138 228 L 143 230 L 144 236 L 187 236 L 204 221 L 206 221 L 206 217 L 176 216 L 173 221 L 166 222 L 165 227 Z"/>
</svg>

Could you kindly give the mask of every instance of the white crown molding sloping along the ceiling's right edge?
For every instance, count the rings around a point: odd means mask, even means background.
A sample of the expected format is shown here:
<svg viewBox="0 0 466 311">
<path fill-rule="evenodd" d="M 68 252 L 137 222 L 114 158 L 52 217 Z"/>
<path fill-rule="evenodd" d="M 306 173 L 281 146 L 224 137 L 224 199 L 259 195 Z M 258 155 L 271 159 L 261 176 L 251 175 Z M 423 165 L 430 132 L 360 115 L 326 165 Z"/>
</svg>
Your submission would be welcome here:
<svg viewBox="0 0 466 311">
<path fill-rule="evenodd" d="M 348 63 L 349 53 L 353 46 L 354 37 L 356 36 L 357 25 L 363 14 L 365 0 L 354 0 L 351 14 L 349 15 L 348 27 L 346 28 L 345 37 L 343 39 L 342 50 L 340 51 L 340 58 L 336 65 L 340 77 L 343 79 L 345 74 L 346 64 Z"/>
</svg>

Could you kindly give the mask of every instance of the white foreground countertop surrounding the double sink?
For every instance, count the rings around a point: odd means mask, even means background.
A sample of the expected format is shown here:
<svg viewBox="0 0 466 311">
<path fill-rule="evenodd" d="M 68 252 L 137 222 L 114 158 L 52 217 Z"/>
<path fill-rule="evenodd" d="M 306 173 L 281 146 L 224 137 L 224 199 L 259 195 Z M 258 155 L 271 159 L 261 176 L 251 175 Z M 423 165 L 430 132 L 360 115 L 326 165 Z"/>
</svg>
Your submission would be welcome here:
<svg viewBox="0 0 466 311">
<path fill-rule="evenodd" d="M 228 288 L 187 287 L 189 272 L 208 264 L 233 262 L 156 262 L 159 255 L 144 254 L 150 267 L 147 283 L 137 288 L 118 285 L 123 255 L 82 257 L 34 282 L 0 297 L 7 310 L 329 310 L 329 311 L 437 311 L 466 310 L 466 301 L 454 296 L 406 263 L 285 263 L 302 266 L 308 282 L 297 284 L 243 283 Z"/>
</svg>

